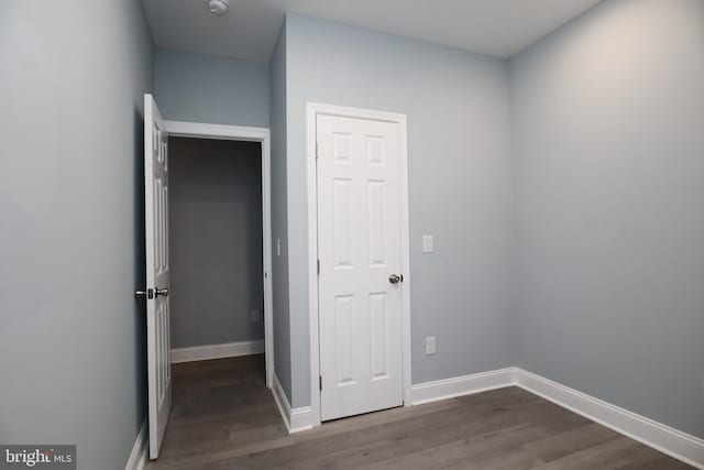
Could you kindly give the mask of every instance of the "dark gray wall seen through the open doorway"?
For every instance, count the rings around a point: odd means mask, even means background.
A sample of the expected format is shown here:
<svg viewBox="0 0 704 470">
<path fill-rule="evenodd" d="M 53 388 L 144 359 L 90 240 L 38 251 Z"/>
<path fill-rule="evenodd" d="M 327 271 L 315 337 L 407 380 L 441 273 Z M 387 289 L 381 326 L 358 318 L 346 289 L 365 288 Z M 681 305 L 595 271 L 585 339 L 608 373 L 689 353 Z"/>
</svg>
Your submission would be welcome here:
<svg viewBox="0 0 704 470">
<path fill-rule="evenodd" d="M 172 347 L 263 339 L 260 143 L 170 138 L 169 156 Z"/>
</svg>

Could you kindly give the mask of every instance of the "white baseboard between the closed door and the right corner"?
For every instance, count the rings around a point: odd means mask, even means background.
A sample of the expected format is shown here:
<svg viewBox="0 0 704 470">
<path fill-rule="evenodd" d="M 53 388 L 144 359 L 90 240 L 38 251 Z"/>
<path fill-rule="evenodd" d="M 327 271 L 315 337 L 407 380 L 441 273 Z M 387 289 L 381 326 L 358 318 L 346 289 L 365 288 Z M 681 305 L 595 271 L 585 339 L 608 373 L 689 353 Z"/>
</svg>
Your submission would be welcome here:
<svg viewBox="0 0 704 470">
<path fill-rule="evenodd" d="M 498 369 L 452 379 L 418 383 L 411 386 L 411 404 L 437 402 L 455 396 L 471 395 L 516 384 L 515 368 Z"/>
</svg>

